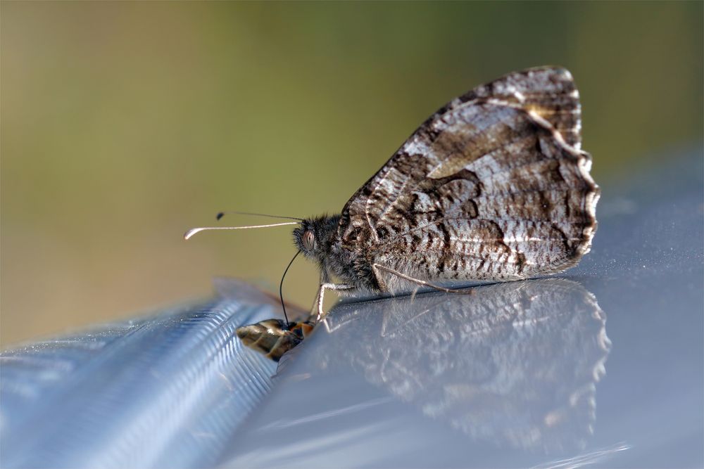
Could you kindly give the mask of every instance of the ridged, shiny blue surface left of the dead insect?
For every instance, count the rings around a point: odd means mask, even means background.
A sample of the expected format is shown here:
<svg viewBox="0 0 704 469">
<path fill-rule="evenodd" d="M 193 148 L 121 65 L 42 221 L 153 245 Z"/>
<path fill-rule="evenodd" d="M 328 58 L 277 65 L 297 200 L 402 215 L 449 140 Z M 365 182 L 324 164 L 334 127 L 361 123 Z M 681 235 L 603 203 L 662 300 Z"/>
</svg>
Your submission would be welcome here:
<svg viewBox="0 0 704 469">
<path fill-rule="evenodd" d="M 213 465 L 275 371 L 234 331 L 278 306 L 238 286 L 237 298 L 3 352 L 1 467 Z"/>
</svg>

